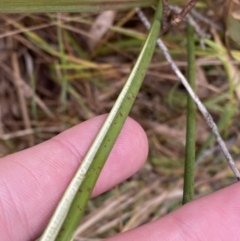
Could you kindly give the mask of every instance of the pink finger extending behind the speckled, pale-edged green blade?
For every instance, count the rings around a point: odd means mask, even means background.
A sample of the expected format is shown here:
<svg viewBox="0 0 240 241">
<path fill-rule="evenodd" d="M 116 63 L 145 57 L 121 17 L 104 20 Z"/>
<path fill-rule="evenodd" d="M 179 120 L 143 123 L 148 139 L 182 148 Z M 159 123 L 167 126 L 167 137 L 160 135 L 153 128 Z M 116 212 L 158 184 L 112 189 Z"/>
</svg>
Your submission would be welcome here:
<svg viewBox="0 0 240 241">
<path fill-rule="evenodd" d="M 93 118 L 0 161 L 1 240 L 33 240 L 42 232 L 105 118 Z M 141 167 L 146 156 L 146 135 L 129 118 L 93 195 L 127 179 Z"/>
</svg>

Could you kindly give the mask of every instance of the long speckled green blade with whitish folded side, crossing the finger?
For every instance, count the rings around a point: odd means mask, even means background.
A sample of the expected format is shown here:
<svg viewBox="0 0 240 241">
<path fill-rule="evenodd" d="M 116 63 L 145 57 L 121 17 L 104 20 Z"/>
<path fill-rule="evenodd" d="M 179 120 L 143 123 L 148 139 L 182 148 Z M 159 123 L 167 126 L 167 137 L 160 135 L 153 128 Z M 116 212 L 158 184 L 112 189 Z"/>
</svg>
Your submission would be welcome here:
<svg viewBox="0 0 240 241">
<path fill-rule="evenodd" d="M 152 28 L 138 60 L 108 118 L 60 201 L 45 232 L 39 239 L 40 241 L 71 240 L 84 213 L 97 178 L 141 87 L 159 35 L 161 17 L 162 3 L 159 1 Z M 72 205 L 69 209 L 71 203 Z"/>
</svg>

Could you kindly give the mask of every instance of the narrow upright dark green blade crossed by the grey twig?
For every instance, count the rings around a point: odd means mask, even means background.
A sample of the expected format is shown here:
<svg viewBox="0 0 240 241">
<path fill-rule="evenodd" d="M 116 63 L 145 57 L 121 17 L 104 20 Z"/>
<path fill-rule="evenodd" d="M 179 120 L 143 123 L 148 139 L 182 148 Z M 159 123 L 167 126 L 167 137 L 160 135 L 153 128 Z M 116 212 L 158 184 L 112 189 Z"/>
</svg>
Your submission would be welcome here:
<svg viewBox="0 0 240 241">
<path fill-rule="evenodd" d="M 192 89 L 195 89 L 195 46 L 194 29 L 188 24 L 187 28 L 188 45 L 188 81 Z M 194 165 L 195 165 L 195 103 L 188 95 L 187 105 L 187 135 L 185 149 L 184 187 L 183 204 L 194 198 Z"/>
</svg>

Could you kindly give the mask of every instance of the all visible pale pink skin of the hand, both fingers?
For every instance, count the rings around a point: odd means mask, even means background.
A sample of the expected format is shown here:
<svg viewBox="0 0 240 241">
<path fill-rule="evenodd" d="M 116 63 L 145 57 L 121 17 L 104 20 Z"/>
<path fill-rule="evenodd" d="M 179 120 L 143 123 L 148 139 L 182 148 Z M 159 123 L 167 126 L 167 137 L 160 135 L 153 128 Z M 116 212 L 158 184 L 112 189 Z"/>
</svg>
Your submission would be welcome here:
<svg viewBox="0 0 240 241">
<path fill-rule="evenodd" d="M 32 241 L 42 233 L 105 117 L 93 118 L 47 142 L 0 160 L 1 240 Z M 128 118 L 93 197 L 137 172 L 147 152 L 144 131 Z M 239 190 L 240 184 L 233 184 L 155 222 L 107 240 L 240 240 Z"/>
</svg>

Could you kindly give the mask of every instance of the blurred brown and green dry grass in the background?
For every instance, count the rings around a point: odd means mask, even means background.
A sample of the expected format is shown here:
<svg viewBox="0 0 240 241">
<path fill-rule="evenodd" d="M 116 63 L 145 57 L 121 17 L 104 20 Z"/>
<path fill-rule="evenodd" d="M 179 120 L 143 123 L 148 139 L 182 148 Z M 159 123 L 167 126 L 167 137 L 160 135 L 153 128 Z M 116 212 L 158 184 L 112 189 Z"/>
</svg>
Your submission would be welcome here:
<svg viewBox="0 0 240 241">
<path fill-rule="evenodd" d="M 238 6 L 238 1 L 200 1 L 192 17 L 202 33 L 195 34 L 196 92 L 240 167 Z M 151 19 L 154 9 L 143 10 Z M 146 34 L 132 8 L 80 14 L 1 14 L 0 156 L 108 113 Z M 171 28 L 162 39 L 185 73 L 186 22 Z M 108 237 L 181 205 L 186 101 L 186 91 L 156 48 L 130 114 L 147 133 L 148 160 L 132 178 L 89 203 L 76 240 Z M 199 113 L 196 129 L 195 191 L 199 197 L 235 178 Z"/>
</svg>

